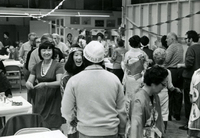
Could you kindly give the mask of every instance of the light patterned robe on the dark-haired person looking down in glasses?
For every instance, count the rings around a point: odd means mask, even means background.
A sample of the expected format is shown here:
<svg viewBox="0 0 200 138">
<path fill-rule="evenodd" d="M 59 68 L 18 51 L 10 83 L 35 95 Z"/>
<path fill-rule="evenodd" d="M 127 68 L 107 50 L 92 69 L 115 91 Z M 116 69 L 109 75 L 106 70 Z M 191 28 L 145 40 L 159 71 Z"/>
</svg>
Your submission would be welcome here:
<svg viewBox="0 0 200 138">
<path fill-rule="evenodd" d="M 139 89 L 131 101 L 129 122 L 131 127 L 126 130 L 126 137 L 161 138 L 164 123 L 158 95 L 150 97 L 143 89 Z"/>
</svg>

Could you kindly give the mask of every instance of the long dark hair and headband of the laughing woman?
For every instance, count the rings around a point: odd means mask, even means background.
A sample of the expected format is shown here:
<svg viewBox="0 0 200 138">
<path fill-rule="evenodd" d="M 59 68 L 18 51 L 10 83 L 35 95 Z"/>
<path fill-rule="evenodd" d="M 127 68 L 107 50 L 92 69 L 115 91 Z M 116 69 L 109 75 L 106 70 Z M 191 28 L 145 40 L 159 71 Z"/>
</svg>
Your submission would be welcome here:
<svg viewBox="0 0 200 138">
<path fill-rule="evenodd" d="M 76 64 L 74 62 L 74 53 L 76 51 L 81 51 L 82 52 L 82 60 L 83 60 L 83 50 L 80 48 L 80 46 L 78 44 L 72 45 L 71 49 L 74 49 L 74 50 L 71 50 L 71 52 L 69 54 L 68 60 L 65 63 L 65 70 L 68 73 L 75 75 L 75 74 L 79 73 L 80 71 L 84 70 L 84 64 L 82 63 L 82 65 L 80 67 L 76 66 Z"/>
</svg>

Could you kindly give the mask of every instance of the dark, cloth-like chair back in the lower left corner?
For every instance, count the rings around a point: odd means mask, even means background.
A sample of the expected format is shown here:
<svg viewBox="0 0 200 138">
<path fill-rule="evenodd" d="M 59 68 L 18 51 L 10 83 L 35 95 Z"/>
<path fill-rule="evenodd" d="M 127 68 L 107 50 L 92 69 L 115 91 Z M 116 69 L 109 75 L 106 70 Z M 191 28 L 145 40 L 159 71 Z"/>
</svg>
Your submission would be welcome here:
<svg viewBox="0 0 200 138">
<path fill-rule="evenodd" d="M 21 114 L 11 117 L 5 124 L 1 136 L 14 135 L 22 128 L 44 127 L 43 117 L 39 114 Z"/>
</svg>

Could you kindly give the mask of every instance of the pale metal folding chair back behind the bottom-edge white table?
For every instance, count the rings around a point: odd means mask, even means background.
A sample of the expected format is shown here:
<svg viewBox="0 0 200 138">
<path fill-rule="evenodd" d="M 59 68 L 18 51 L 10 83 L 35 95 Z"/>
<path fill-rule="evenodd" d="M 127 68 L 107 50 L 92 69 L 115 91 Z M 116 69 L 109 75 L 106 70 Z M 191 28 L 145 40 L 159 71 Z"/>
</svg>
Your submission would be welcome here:
<svg viewBox="0 0 200 138">
<path fill-rule="evenodd" d="M 51 130 L 46 127 L 22 128 L 22 129 L 18 130 L 14 135 L 38 133 L 38 132 L 45 132 L 45 131 L 51 131 Z"/>
</svg>

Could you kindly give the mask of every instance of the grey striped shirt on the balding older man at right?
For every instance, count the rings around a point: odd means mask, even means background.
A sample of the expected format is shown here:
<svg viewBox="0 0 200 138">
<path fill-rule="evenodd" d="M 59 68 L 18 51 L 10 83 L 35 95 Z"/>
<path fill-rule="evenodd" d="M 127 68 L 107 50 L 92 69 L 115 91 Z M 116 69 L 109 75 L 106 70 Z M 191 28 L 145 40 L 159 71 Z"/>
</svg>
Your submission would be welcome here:
<svg viewBox="0 0 200 138">
<path fill-rule="evenodd" d="M 179 43 L 171 44 L 166 50 L 166 67 L 176 67 L 177 64 L 183 63 L 183 46 Z"/>
</svg>

